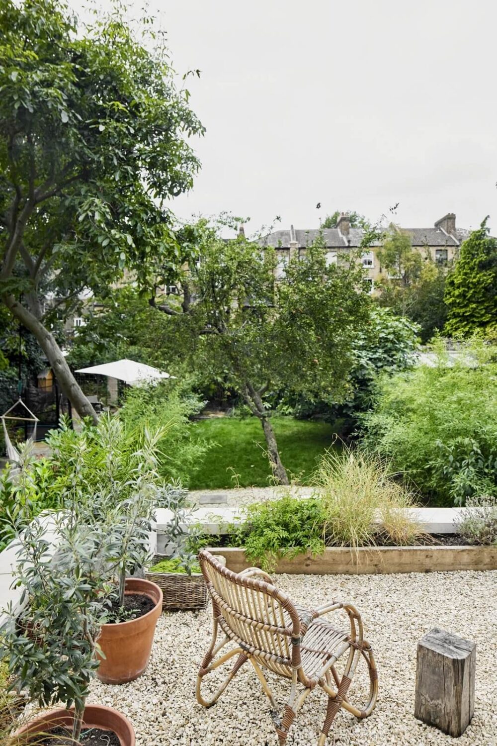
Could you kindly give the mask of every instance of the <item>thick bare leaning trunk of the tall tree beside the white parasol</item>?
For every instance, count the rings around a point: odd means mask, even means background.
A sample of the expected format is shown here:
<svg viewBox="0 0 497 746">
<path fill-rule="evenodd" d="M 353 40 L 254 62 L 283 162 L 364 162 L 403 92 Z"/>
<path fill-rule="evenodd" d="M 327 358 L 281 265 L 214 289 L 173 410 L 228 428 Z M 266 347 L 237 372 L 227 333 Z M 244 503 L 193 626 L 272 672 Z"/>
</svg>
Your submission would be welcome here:
<svg viewBox="0 0 497 746">
<path fill-rule="evenodd" d="M 19 321 L 31 331 L 36 337 L 39 346 L 45 353 L 51 368 L 60 383 L 60 388 L 63 390 L 66 397 L 71 402 L 80 417 L 91 417 L 92 421 L 97 424 L 98 416 L 89 403 L 86 396 L 78 386 L 75 377 L 73 376 L 71 369 L 66 363 L 66 358 L 63 356 L 62 351 L 57 345 L 54 336 L 45 329 L 36 316 L 31 311 L 22 306 L 19 301 L 16 301 L 12 295 L 4 296 L 4 304 Z"/>
</svg>

